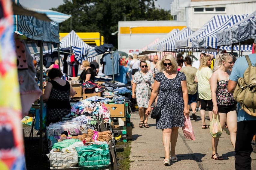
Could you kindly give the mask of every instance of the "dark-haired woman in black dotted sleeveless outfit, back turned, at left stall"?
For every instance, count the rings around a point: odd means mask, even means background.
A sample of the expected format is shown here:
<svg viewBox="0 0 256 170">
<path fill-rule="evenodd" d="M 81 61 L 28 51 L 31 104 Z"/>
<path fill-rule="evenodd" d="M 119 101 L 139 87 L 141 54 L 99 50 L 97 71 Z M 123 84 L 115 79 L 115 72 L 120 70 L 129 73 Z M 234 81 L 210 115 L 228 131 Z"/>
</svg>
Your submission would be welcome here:
<svg viewBox="0 0 256 170">
<path fill-rule="evenodd" d="M 48 72 L 51 81 L 47 83 L 43 95 L 43 101 L 47 103 L 47 126 L 71 113 L 69 97 L 74 96 L 76 92 L 61 76 L 59 69 L 51 69 Z"/>
</svg>

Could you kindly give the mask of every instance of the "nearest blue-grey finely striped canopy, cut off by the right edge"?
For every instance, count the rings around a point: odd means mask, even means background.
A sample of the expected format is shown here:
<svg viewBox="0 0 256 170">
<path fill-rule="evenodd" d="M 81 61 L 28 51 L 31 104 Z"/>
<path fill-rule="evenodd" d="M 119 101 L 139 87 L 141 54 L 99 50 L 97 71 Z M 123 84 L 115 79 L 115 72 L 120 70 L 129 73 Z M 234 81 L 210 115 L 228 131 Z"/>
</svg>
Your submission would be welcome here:
<svg viewBox="0 0 256 170">
<path fill-rule="evenodd" d="M 217 32 L 217 45 L 231 45 L 251 38 L 255 38 L 256 11 L 231 27 Z M 253 20 L 253 21 L 251 21 Z M 241 37 L 240 37 L 241 36 Z"/>
</svg>

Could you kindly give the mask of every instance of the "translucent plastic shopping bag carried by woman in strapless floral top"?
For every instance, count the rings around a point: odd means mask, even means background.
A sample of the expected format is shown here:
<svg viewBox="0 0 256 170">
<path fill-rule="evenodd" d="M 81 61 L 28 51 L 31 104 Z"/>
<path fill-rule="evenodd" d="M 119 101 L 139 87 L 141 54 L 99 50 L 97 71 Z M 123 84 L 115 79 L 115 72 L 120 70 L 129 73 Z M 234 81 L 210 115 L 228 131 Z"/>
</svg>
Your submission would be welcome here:
<svg viewBox="0 0 256 170">
<path fill-rule="evenodd" d="M 221 137 L 222 129 L 218 115 L 212 114 L 212 121 L 210 122 L 210 133 L 214 138 Z"/>
</svg>

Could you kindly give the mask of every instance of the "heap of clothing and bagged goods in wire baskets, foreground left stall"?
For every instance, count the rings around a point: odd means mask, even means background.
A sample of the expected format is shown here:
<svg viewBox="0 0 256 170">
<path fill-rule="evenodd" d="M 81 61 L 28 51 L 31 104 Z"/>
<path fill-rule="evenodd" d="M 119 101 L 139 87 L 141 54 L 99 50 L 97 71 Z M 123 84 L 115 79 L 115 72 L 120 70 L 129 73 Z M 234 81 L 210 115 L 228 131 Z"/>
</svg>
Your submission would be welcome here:
<svg viewBox="0 0 256 170">
<path fill-rule="evenodd" d="M 47 127 L 51 169 L 110 169 L 110 121 L 109 110 L 100 102 L 73 104 L 72 114 Z"/>
</svg>

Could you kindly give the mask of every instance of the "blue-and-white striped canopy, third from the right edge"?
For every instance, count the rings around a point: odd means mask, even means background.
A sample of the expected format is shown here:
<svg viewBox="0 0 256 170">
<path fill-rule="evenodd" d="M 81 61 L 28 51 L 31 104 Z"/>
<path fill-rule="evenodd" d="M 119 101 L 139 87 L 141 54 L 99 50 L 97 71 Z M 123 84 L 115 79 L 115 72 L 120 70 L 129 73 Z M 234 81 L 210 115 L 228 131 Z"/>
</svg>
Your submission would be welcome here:
<svg viewBox="0 0 256 170">
<path fill-rule="evenodd" d="M 199 28 L 197 31 L 195 31 L 193 34 L 191 34 L 189 37 L 176 41 L 176 48 L 183 48 L 183 47 L 194 47 L 197 48 L 198 43 L 197 40 L 205 35 L 208 35 L 209 33 L 213 32 L 215 29 L 220 27 L 222 24 L 227 22 L 227 20 L 231 16 L 228 15 L 216 15 L 212 17 L 208 22 L 206 22 L 205 25 L 203 25 L 201 28 Z M 193 44 L 193 45 L 192 45 Z"/>
</svg>

